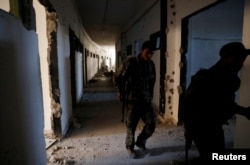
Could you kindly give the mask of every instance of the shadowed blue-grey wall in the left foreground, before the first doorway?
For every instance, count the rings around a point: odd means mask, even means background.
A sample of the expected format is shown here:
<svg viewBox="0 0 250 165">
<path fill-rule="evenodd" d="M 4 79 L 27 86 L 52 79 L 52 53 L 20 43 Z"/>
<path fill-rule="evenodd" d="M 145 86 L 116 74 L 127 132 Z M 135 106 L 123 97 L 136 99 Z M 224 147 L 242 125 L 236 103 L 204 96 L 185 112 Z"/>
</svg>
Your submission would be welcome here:
<svg viewBox="0 0 250 165">
<path fill-rule="evenodd" d="M 38 37 L 0 10 L 1 164 L 45 165 Z"/>
</svg>

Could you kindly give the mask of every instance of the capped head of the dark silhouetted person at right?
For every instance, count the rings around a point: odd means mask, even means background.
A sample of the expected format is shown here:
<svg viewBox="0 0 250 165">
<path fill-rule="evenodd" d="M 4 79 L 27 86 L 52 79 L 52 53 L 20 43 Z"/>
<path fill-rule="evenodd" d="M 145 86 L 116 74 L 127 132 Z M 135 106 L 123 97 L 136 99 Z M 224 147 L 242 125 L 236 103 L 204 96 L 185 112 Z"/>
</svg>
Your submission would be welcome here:
<svg viewBox="0 0 250 165">
<path fill-rule="evenodd" d="M 230 42 L 220 49 L 220 57 L 223 64 L 230 69 L 240 70 L 250 50 L 241 42 Z"/>
</svg>

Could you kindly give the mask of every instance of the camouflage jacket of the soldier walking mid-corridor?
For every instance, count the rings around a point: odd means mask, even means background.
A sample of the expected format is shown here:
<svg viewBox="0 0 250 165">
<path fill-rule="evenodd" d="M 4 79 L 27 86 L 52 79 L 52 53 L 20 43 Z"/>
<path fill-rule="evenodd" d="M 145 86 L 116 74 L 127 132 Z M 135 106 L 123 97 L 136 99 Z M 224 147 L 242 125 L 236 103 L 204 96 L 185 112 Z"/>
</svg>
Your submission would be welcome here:
<svg viewBox="0 0 250 165">
<path fill-rule="evenodd" d="M 151 102 L 155 84 L 155 65 L 139 56 L 129 56 L 115 75 L 115 85 L 129 101 Z"/>
</svg>

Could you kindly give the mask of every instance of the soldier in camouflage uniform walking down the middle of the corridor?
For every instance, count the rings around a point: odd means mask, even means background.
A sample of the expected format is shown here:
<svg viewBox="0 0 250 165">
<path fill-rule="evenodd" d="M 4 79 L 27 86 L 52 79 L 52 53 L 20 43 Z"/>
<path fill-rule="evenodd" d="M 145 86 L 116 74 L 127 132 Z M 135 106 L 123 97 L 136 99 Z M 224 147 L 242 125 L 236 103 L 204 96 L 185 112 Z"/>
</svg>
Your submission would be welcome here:
<svg viewBox="0 0 250 165">
<path fill-rule="evenodd" d="M 124 100 L 121 97 L 125 97 L 127 103 L 125 144 L 130 158 L 138 157 L 134 145 L 143 154 L 149 154 L 145 144 L 155 130 L 156 118 L 151 105 L 155 84 L 155 65 L 151 60 L 152 50 L 153 44 L 150 41 L 144 42 L 141 53 L 138 56 L 128 57 L 115 77 L 118 99 Z M 135 130 L 140 119 L 145 125 L 135 142 Z"/>
</svg>

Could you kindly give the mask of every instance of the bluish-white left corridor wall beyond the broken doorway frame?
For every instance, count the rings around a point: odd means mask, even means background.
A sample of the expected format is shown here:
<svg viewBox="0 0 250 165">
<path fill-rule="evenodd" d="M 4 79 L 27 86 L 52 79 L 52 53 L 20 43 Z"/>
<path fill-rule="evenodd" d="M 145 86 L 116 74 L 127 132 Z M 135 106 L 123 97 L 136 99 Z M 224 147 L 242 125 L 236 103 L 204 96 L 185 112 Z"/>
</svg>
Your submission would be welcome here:
<svg viewBox="0 0 250 165">
<path fill-rule="evenodd" d="M 57 51 L 58 51 L 58 72 L 59 72 L 59 88 L 61 103 L 61 129 L 65 135 L 72 119 L 72 97 L 71 97 L 71 76 L 70 76 L 70 43 L 69 43 L 69 27 L 74 31 L 84 48 L 94 54 L 106 56 L 106 50 L 94 43 L 86 34 L 82 26 L 80 16 L 77 13 L 76 6 L 70 0 L 63 3 L 57 0 L 51 0 L 56 13 L 58 15 L 58 31 L 57 31 Z M 84 54 L 85 55 L 85 54 Z M 85 59 L 85 57 L 83 57 Z M 84 66 L 86 67 L 86 66 Z M 89 65 L 87 67 L 93 67 Z M 97 65 L 95 66 L 97 68 Z M 88 74 L 89 75 L 89 74 Z M 91 73 L 92 75 L 92 73 Z M 77 91 L 79 93 L 81 91 Z"/>
</svg>

